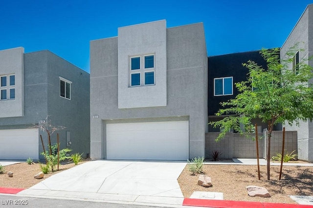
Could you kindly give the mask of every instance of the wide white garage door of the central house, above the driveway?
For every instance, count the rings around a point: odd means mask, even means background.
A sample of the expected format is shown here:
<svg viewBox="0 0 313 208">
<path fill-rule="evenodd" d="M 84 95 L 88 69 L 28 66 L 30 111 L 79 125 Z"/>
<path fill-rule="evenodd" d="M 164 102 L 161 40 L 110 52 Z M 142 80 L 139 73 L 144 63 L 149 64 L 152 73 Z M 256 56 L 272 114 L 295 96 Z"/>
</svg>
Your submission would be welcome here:
<svg viewBox="0 0 313 208">
<path fill-rule="evenodd" d="M 187 160 L 189 122 L 107 124 L 107 159 Z"/>
</svg>

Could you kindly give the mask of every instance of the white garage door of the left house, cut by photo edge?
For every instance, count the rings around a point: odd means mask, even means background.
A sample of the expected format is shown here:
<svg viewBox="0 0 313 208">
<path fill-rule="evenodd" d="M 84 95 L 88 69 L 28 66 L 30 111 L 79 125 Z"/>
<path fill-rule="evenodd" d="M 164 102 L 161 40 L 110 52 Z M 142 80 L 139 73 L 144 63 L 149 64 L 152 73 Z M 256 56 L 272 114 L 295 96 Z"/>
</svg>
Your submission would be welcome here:
<svg viewBox="0 0 313 208">
<path fill-rule="evenodd" d="M 0 160 L 38 160 L 38 129 L 0 130 Z"/>
</svg>

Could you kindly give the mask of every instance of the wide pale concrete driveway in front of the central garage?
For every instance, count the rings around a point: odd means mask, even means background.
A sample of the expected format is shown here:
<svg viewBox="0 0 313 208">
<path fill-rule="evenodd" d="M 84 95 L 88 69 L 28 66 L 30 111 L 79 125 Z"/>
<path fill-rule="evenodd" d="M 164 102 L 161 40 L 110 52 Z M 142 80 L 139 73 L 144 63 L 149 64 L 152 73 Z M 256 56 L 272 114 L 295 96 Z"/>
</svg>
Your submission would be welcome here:
<svg viewBox="0 0 313 208">
<path fill-rule="evenodd" d="M 181 205 L 186 162 L 90 161 L 18 193 L 23 196 Z"/>
</svg>

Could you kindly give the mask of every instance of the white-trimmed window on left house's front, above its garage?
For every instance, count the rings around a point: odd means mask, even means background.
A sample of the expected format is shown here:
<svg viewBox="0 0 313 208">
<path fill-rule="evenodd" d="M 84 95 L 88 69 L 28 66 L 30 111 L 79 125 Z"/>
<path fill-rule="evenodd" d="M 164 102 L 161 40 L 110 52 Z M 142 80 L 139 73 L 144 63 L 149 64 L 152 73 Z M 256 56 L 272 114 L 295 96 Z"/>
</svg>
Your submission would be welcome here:
<svg viewBox="0 0 313 208">
<path fill-rule="evenodd" d="M 15 99 L 15 75 L 0 76 L 0 100 Z"/>
</svg>

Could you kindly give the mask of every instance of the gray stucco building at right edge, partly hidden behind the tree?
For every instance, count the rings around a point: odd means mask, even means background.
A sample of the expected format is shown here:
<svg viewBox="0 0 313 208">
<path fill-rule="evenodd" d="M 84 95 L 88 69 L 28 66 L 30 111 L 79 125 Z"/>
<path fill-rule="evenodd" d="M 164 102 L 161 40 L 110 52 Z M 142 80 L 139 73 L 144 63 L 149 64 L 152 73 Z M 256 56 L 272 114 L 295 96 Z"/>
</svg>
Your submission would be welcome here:
<svg viewBox="0 0 313 208">
<path fill-rule="evenodd" d="M 281 47 L 281 59 L 286 58 L 286 52 L 297 43 L 299 48 L 304 50 L 294 54 L 293 65 L 299 63 L 299 61 L 301 62 L 302 59 L 308 59 L 313 56 L 313 4 L 307 6 Z M 306 61 L 306 63 L 313 66 L 313 60 Z M 295 124 L 292 127 L 287 124 L 286 130 L 298 132 L 298 158 L 313 161 L 313 123 L 300 122 L 299 127 Z"/>
</svg>

